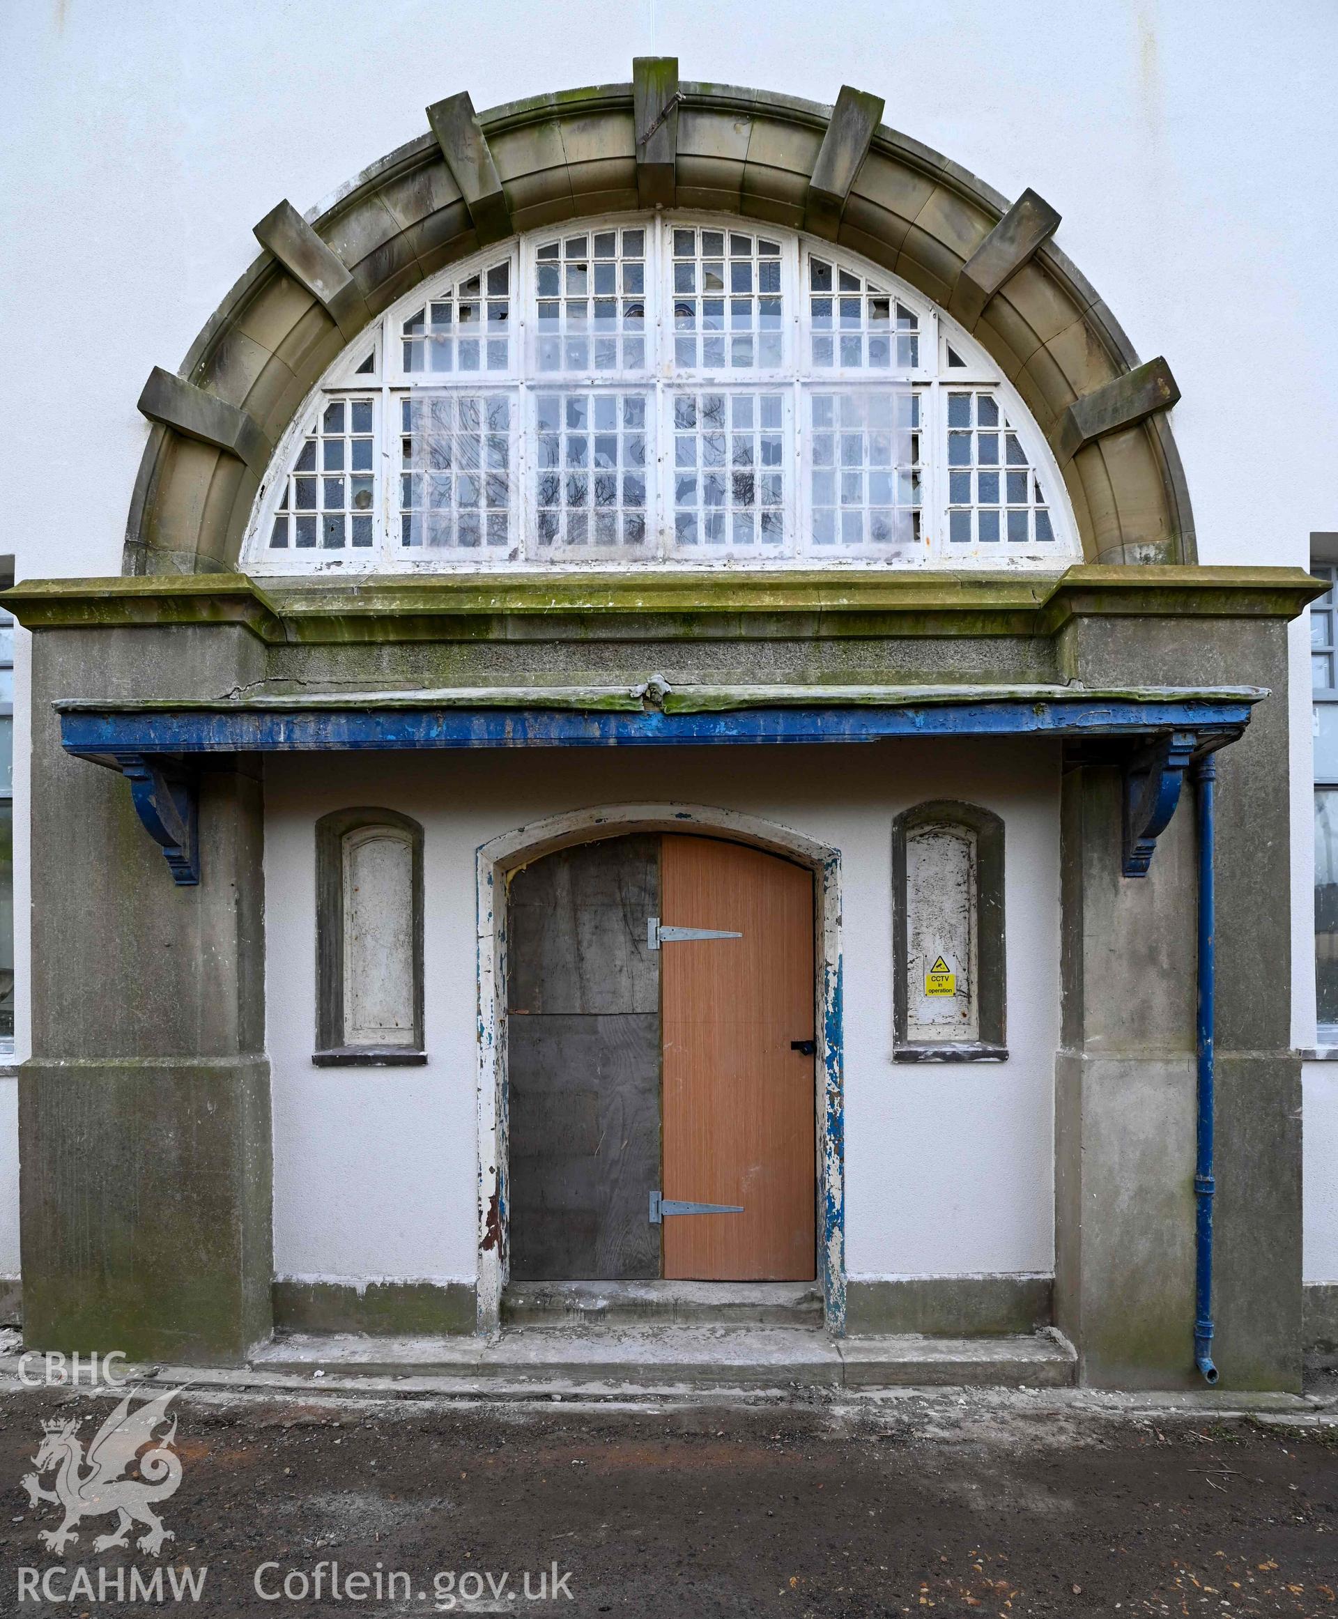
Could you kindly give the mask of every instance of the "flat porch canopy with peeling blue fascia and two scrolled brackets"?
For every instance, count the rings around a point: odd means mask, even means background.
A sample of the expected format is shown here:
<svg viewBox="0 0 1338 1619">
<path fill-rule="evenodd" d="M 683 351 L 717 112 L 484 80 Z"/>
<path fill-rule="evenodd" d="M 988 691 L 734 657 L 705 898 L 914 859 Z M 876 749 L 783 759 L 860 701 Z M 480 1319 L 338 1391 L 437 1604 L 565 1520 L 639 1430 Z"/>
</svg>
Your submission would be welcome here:
<svg viewBox="0 0 1338 1619">
<path fill-rule="evenodd" d="M 471 686 L 57 703 L 61 746 L 121 771 L 176 882 L 199 882 L 207 756 L 424 748 L 854 743 L 1056 737 L 1107 743 L 1124 776 L 1121 863 L 1147 873 L 1194 758 L 1234 742 L 1262 686 Z"/>
</svg>

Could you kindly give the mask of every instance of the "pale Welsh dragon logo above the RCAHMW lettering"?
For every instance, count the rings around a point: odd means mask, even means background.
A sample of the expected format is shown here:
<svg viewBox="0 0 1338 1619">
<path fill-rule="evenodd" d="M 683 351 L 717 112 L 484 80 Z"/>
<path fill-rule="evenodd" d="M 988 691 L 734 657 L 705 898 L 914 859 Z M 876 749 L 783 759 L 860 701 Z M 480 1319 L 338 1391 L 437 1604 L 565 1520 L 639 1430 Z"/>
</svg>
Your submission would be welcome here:
<svg viewBox="0 0 1338 1619">
<path fill-rule="evenodd" d="M 131 1396 L 126 1394 L 92 1436 L 87 1454 L 76 1438 L 81 1418 L 42 1423 L 42 1443 L 32 1457 L 37 1472 L 28 1473 L 21 1483 L 31 1506 L 49 1501 L 65 1511 L 65 1522 L 58 1528 L 37 1532 L 47 1551 L 60 1556 L 71 1540 L 79 1538 L 76 1525 L 81 1519 L 107 1512 L 118 1515 L 116 1527 L 94 1540 L 94 1551 L 126 1546 L 131 1523 L 146 1527 L 147 1533 L 136 1540 L 136 1546 L 154 1557 L 162 1551 L 163 1541 L 175 1538 L 154 1512 L 154 1504 L 173 1496 L 181 1483 L 181 1457 L 170 1449 L 176 1439 L 175 1413 L 165 1434 L 155 1438 L 154 1430 L 168 1420 L 168 1402 L 180 1392 L 168 1389 L 136 1410 L 131 1410 Z M 144 1446 L 150 1449 L 146 1451 Z M 126 1478 L 136 1457 L 139 1477 Z M 50 1468 L 57 1470 L 55 1489 L 44 1489 L 40 1475 Z"/>
</svg>

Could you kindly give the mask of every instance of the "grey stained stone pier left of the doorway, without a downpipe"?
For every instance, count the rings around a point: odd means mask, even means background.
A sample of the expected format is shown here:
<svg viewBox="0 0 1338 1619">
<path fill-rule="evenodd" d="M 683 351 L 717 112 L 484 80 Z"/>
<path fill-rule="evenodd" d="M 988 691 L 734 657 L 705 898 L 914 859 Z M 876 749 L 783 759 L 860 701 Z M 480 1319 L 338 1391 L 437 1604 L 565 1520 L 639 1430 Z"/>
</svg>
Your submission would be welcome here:
<svg viewBox="0 0 1338 1619">
<path fill-rule="evenodd" d="M 47 810 L 32 822 L 40 916 L 19 1069 L 29 1345 L 235 1363 L 270 1336 L 259 769 L 204 769 L 205 881 L 176 887 L 125 782 L 65 754 L 52 711 L 79 690 L 204 693 L 262 664 L 238 625 L 34 644 L 32 790 Z"/>
</svg>

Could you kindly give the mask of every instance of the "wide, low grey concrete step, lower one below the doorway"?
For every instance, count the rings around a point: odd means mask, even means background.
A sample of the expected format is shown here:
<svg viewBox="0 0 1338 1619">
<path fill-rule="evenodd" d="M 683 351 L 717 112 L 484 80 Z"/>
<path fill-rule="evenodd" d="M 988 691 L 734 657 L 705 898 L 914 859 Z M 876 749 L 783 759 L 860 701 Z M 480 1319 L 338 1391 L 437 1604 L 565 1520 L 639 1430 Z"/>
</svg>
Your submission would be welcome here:
<svg viewBox="0 0 1338 1619">
<path fill-rule="evenodd" d="M 461 1392 L 548 1387 L 654 1392 L 802 1387 L 1068 1387 L 1073 1349 L 1032 1337 L 849 1337 L 801 1328 L 511 1328 L 474 1337 L 291 1334 L 251 1360 L 257 1371 L 330 1378 L 445 1379 Z"/>
</svg>

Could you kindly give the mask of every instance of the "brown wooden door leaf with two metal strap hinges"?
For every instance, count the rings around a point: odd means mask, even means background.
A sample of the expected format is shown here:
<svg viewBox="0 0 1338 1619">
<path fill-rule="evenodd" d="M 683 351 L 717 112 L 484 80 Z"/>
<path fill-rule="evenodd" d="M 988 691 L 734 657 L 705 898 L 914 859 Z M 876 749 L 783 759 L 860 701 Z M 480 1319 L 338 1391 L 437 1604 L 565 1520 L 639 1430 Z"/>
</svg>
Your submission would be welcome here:
<svg viewBox="0 0 1338 1619">
<path fill-rule="evenodd" d="M 665 837 L 660 921 L 739 939 L 660 952 L 663 1196 L 741 1203 L 671 1214 L 665 1276 L 809 1281 L 815 1274 L 812 874 L 705 837 Z"/>
</svg>

